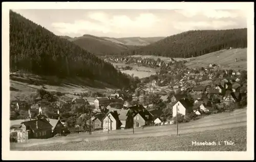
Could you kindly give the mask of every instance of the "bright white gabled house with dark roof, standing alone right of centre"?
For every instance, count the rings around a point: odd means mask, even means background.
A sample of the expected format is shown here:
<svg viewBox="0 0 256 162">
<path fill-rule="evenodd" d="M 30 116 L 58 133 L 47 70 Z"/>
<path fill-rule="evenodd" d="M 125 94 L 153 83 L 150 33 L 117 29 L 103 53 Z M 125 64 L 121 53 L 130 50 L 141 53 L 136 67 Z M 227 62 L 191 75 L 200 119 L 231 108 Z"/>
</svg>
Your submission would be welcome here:
<svg viewBox="0 0 256 162">
<path fill-rule="evenodd" d="M 187 99 L 180 99 L 173 105 L 173 117 L 176 117 L 177 109 L 179 114 L 187 115 L 193 111 L 193 103 L 190 103 Z"/>
</svg>

